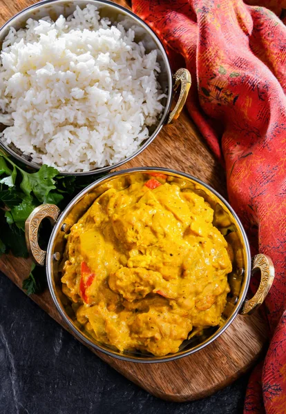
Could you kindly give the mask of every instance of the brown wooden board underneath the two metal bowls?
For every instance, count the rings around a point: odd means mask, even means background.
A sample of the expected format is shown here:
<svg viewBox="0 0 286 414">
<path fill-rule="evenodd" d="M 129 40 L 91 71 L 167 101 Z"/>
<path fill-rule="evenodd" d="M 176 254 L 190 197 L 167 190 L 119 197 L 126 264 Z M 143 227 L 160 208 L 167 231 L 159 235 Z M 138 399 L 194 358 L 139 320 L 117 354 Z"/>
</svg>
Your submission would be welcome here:
<svg viewBox="0 0 286 414">
<path fill-rule="evenodd" d="M 32 3 L 35 1 L 0 0 L 0 25 Z M 126 6 L 124 1 L 118 3 Z M 172 126 L 165 126 L 153 144 L 121 169 L 136 166 L 162 166 L 188 172 L 227 196 L 225 173 L 187 113 L 182 113 Z M 1 257 L 0 270 L 21 288 L 30 271 L 30 261 L 6 255 Z M 48 290 L 41 295 L 32 295 L 31 299 L 69 331 Z M 153 395 L 183 402 L 207 397 L 245 373 L 263 352 L 267 331 L 259 313 L 249 317 L 238 315 L 227 331 L 207 348 L 189 357 L 161 364 L 124 362 L 90 350 Z"/>
</svg>

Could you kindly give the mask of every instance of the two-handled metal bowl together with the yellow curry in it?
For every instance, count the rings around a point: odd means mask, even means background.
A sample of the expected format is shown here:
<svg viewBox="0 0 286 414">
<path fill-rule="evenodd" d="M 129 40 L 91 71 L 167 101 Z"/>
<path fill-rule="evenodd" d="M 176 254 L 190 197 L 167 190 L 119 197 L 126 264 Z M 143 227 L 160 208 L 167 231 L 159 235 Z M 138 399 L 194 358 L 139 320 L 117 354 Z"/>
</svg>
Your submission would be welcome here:
<svg viewBox="0 0 286 414">
<path fill-rule="evenodd" d="M 47 252 L 41 221 L 55 223 Z M 196 352 L 238 313 L 251 313 L 274 279 L 236 213 L 215 190 L 182 172 L 133 168 L 98 179 L 60 213 L 36 208 L 26 222 L 32 256 L 46 262 L 57 309 L 77 336 L 133 362 Z M 245 299 L 251 272 L 260 286 Z"/>
</svg>

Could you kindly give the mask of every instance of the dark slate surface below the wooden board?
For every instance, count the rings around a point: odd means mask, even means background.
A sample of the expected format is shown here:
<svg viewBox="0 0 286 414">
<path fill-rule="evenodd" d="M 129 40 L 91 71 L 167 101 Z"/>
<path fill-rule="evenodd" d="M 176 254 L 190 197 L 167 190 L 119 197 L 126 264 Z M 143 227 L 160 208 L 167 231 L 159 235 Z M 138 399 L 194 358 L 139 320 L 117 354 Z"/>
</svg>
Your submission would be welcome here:
<svg viewBox="0 0 286 414">
<path fill-rule="evenodd" d="M 247 377 L 190 403 L 158 400 L 66 333 L 0 275 L 1 414 L 236 414 Z"/>
</svg>

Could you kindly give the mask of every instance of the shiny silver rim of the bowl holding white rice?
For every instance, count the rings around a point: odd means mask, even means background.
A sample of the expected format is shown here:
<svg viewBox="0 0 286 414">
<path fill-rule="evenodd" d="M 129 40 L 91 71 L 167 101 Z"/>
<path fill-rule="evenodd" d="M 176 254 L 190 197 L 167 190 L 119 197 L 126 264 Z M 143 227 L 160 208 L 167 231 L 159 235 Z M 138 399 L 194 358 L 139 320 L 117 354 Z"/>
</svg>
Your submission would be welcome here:
<svg viewBox="0 0 286 414">
<path fill-rule="evenodd" d="M 133 13 L 132 10 L 128 10 L 128 8 L 125 8 L 123 6 L 120 6 L 117 3 L 113 3 L 112 1 L 108 1 L 108 0 L 77 0 L 77 1 L 79 1 L 79 3 L 90 3 L 90 4 L 102 3 L 106 6 L 111 6 L 112 8 L 122 10 L 124 13 L 128 14 L 134 21 L 139 22 L 140 25 L 146 30 L 146 32 L 148 32 L 150 36 L 153 38 L 153 40 L 158 46 L 158 49 L 162 53 L 162 58 L 164 59 L 164 63 L 166 64 L 166 73 L 168 75 L 168 83 L 169 83 L 166 106 L 164 108 L 162 117 L 160 118 L 158 122 L 158 126 L 155 128 L 152 135 L 149 138 L 147 138 L 145 142 L 143 142 L 142 146 L 140 146 L 140 148 L 138 148 L 138 150 L 134 152 L 134 154 L 130 155 L 130 157 L 124 158 L 122 159 L 122 161 L 118 162 L 117 164 L 113 164 L 112 166 L 104 166 L 101 168 L 96 168 L 95 170 L 79 171 L 79 172 L 59 171 L 61 175 L 75 175 L 77 177 L 80 177 L 80 176 L 85 176 L 85 175 L 99 175 L 99 174 L 102 174 L 103 172 L 108 172 L 115 168 L 118 168 L 122 166 L 123 164 L 126 164 L 128 161 L 131 161 L 131 159 L 137 157 L 137 155 L 140 155 L 140 153 L 147 146 L 149 146 L 149 144 L 151 144 L 151 142 L 159 134 L 160 130 L 165 124 L 167 117 L 169 116 L 169 112 L 171 109 L 171 103 L 172 103 L 172 97 L 173 97 L 173 72 L 171 70 L 169 57 L 166 54 L 166 50 L 164 48 L 162 41 L 160 41 L 158 35 L 154 32 L 154 30 L 150 26 L 148 26 L 140 17 L 138 17 L 137 14 Z M 39 1 L 38 3 L 32 4 L 31 6 L 28 6 L 24 8 L 23 10 L 19 11 L 17 14 L 12 16 L 8 21 L 6 21 L 6 23 L 4 23 L 3 26 L 0 27 L 0 42 L 1 42 L 1 34 L 3 30 L 5 30 L 8 25 L 11 25 L 12 27 L 13 21 L 16 21 L 17 18 L 21 16 L 21 14 L 24 14 L 31 10 L 35 10 L 37 8 L 41 8 L 41 6 L 47 5 L 49 3 L 57 4 L 57 3 L 65 3 L 65 2 L 68 3 L 69 1 L 68 0 L 42 0 L 42 1 Z M 28 18 L 29 17 L 27 17 L 27 20 Z M 0 52 L 1 50 L 2 49 L 0 49 Z M 0 147 L 3 148 L 3 150 L 7 151 L 10 155 L 12 155 L 12 157 L 16 158 L 18 161 L 21 161 L 23 164 L 25 164 L 26 166 L 30 168 L 35 168 L 36 170 L 39 170 L 39 168 L 41 168 L 41 166 L 44 165 L 44 164 L 37 164 L 34 161 L 28 161 L 24 159 L 23 157 L 21 157 L 21 155 L 17 154 L 17 152 L 12 150 L 12 148 L 10 148 L 7 144 L 5 144 L 1 138 L 0 138 Z"/>
</svg>

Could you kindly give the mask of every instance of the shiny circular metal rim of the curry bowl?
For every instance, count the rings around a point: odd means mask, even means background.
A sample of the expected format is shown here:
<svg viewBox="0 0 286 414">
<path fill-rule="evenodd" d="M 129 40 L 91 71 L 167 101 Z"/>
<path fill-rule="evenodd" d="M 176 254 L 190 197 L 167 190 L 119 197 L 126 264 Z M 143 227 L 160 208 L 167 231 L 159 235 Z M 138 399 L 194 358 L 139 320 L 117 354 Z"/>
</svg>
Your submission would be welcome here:
<svg viewBox="0 0 286 414">
<path fill-rule="evenodd" d="M 99 184 L 102 184 L 103 181 L 106 180 L 106 179 L 109 180 L 113 177 L 117 177 L 117 176 L 120 176 L 120 175 L 133 174 L 133 172 L 143 172 L 143 173 L 147 172 L 148 173 L 150 171 L 152 171 L 152 172 L 168 172 L 169 175 L 175 174 L 175 175 L 179 175 L 180 177 L 183 177 L 183 178 L 191 179 L 191 180 L 195 181 L 196 183 L 200 184 L 201 186 L 204 186 L 205 188 L 207 188 L 207 190 L 211 191 L 211 193 L 216 195 L 216 197 L 218 197 L 218 199 L 220 199 L 220 201 L 222 201 L 222 203 L 225 204 L 225 206 L 229 209 L 229 211 L 233 215 L 234 219 L 236 219 L 236 224 L 238 225 L 238 228 L 240 228 L 240 231 L 241 231 L 241 234 L 242 234 L 242 239 L 243 239 L 243 242 L 244 242 L 243 250 L 246 250 L 245 253 L 246 253 L 246 257 L 247 257 L 247 263 L 246 263 L 246 266 L 245 266 L 245 267 L 247 267 L 247 272 L 245 272 L 245 275 L 244 275 L 244 278 L 245 278 L 244 290 L 242 292 L 242 295 L 240 295 L 240 298 L 238 299 L 238 302 L 236 303 L 236 307 L 234 308 L 233 312 L 231 313 L 231 315 L 227 319 L 227 322 L 224 325 L 222 325 L 220 328 L 218 328 L 218 330 L 215 333 L 213 333 L 207 340 L 202 342 L 202 344 L 194 346 L 193 348 L 191 348 L 191 350 L 179 351 L 179 353 L 175 353 L 175 355 L 170 354 L 169 356 L 152 357 L 152 359 L 145 359 L 144 357 L 129 357 L 128 355 L 124 355 L 124 354 L 122 354 L 120 352 L 117 352 L 117 351 L 108 351 L 107 349 L 102 348 L 100 345 L 95 344 L 95 342 L 88 339 L 88 337 L 84 336 L 82 334 L 82 332 L 79 331 L 79 328 L 76 328 L 75 325 L 71 322 L 71 319 L 68 317 L 68 315 L 66 315 L 66 313 L 64 312 L 61 304 L 57 300 L 57 295 L 55 295 L 55 288 L 54 288 L 54 283 L 53 283 L 53 278 L 52 278 L 52 266 L 53 266 L 53 245 L 54 245 L 54 242 L 55 242 L 55 237 L 57 235 L 57 232 L 61 228 L 61 225 L 63 223 L 63 219 L 69 213 L 69 210 L 71 208 L 73 208 L 73 206 L 75 206 L 75 204 L 77 204 L 77 201 L 79 201 L 79 199 L 81 199 L 84 195 L 89 193 L 90 190 L 93 190 L 93 188 L 95 188 L 95 186 L 98 186 Z M 201 181 L 200 179 L 198 179 L 196 177 L 193 177 L 192 175 L 189 175 L 186 172 L 173 170 L 171 168 L 136 167 L 136 168 L 128 168 L 126 170 L 120 170 L 120 171 L 117 171 L 117 172 L 112 172 L 111 174 L 108 174 L 105 177 L 101 177 L 101 178 L 97 179 L 95 182 L 93 182 L 92 184 L 90 184 L 89 186 L 84 188 L 84 190 L 82 190 L 72 201 L 70 201 L 68 206 L 66 206 L 66 208 L 61 212 L 61 215 L 59 215 L 59 218 L 57 219 L 57 224 L 55 224 L 55 227 L 53 228 L 53 232 L 52 232 L 52 234 L 50 236 L 50 239 L 49 239 L 49 242 L 48 242 L 48 249 L 47 249 L 47 254 L 46 254 L 46 274 L 47 274 L 47 279 L 48 279 L 48 288 L 49 288 L 50 294 L 53 298 L 53 302 L 55 303 L 55 305 L 57 307 L 57 310 L 59 311 L 61 317 L 64 318 L 64 321 L 68 324 L 69 328 L 73 331 L 73 333 L 75 333 L 76 337 L 79 337 L 79 339 L 81 339 L 82 342 L 84 342 L 88 346 L 91 346 L 96 351 L 102 352 L 102 353 L 104 353 L 106 355 L 109 355 L 111 357 L 115 357 L 117 359 L 122 359 L 122 360 L 127 361 L 127 362 L 137 362 L 137 363 L 143 363 L 143 364 L 154 364 L 154 363 L 159 363 L 159 362 L 170 362 L 170 361 L 174 361 L 175 359 L 180 359 L 181 357 L 187 357 L 188 355 L 191 355 L 191 354 L 193 354 L 197 351 L 200 351 L 202 348 L 204 348 L 207 345 L 211 344 L 211 342 L 213 342 L 217 337 L 219 337 L 220 335 L 222 335 L 223 332 L 225 332 L 225 330 L 233 322 L 233 319 L 235 319 L 236 316 L 238 315 L 238 311 L 240 310 L 240 307 L 242 306 L 243 302 L 245 301 L 245 297 L 247 295 L 247 289 L 248 289 L 248 286 L 249 286 L 250 275 L 251 275 L 251 253 L 250 253 L 249 242 L 248 242 L 248 239 L 247 239 L 247 235 L 245 233 L 245 229 L 243 228 L 243 226 L 240 222 L 240 219 L 238 218 L 238 215 L 233 210 L 233 208 L 230 206 L 228 201 L 225 200 L 225 198 L 222 197 L 222 195 L 220 195 L 220 193 L 218 193 L 211 186 L 209 186 L 209 184 L 204 183 L 204 181 Z"/>
</svg>

